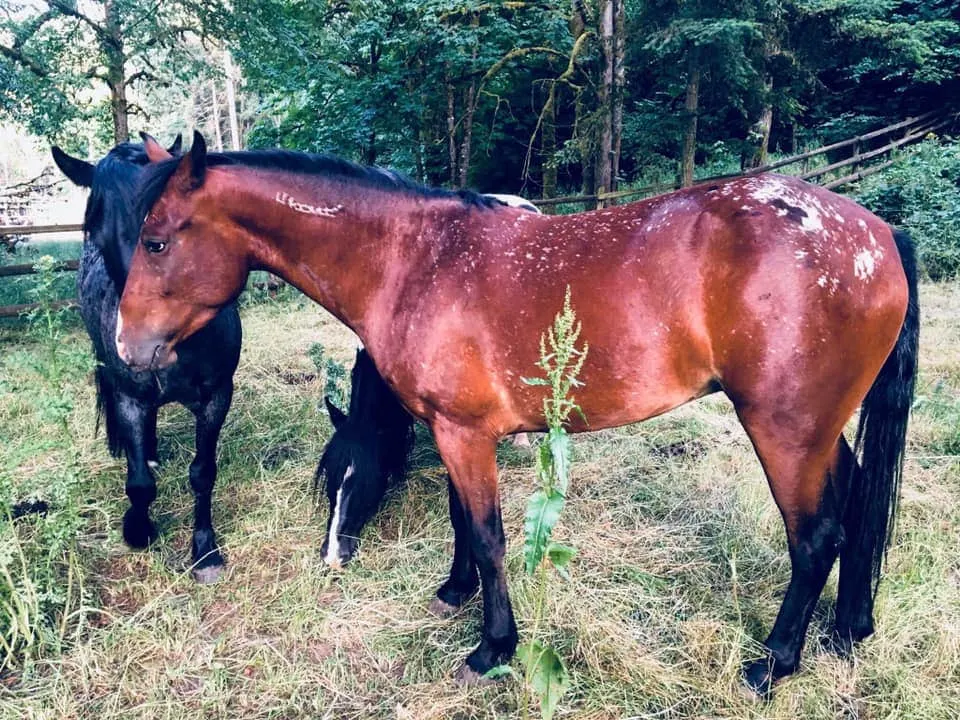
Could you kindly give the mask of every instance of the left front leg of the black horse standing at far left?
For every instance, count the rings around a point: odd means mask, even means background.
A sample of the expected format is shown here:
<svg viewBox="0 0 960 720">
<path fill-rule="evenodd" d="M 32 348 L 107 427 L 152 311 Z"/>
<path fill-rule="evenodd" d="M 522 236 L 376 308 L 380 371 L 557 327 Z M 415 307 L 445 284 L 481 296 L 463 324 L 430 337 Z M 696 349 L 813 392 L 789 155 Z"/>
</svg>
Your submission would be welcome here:
<svg viewBox="0 0 960 720">
<path fill-rule="evenodd" d="M 157 497 L 157 482 L 147 465 L 150 418 L 157 408 L 115 391 L 117 420 L 127 455 L 127 497 L 130 507 L 123 516 L 123 539 L 133 548 L 145 548 L 157 536 L 150 520 L 150 503 Z"/>
</svg>

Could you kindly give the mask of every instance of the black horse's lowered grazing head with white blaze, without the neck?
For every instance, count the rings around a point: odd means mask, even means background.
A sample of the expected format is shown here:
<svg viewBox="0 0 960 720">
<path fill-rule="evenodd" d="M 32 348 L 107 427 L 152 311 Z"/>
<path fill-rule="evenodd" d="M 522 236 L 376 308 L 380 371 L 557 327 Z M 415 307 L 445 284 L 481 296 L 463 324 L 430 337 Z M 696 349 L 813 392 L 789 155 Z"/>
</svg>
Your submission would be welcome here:
<svg viewBox="0 0 960 720">
<path fill-rule="evenodd" d="M 326 478 L 330 517 L 321 551 L 324 562 L 340 567 L 357 551 L 360 532 L 387 492 L 382 464 L 381 431 L 373 423 L 348 416 L 326 398 L 334 433 L 317 466 L 319 487 Z"/>
</svg>

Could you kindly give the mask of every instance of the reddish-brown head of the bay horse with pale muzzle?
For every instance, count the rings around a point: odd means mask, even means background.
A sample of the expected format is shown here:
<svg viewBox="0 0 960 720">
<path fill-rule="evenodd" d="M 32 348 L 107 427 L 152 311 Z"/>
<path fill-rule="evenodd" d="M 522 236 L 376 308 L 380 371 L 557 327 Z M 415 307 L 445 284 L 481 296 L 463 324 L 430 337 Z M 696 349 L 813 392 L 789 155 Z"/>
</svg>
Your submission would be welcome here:
<svg viewBox="0 0 960 720">
<path fill-rule="evenodd" d="M 140 185 L 143 225 L 120 301 L 117 352 L 135 368 L 156 369 L 176 361 L 177 343 L 240 294 L 249 263 L 212 197 L 203 137 L 195 133 L 179 159 L 144 140 L 151 164 Z"/>
</svg>

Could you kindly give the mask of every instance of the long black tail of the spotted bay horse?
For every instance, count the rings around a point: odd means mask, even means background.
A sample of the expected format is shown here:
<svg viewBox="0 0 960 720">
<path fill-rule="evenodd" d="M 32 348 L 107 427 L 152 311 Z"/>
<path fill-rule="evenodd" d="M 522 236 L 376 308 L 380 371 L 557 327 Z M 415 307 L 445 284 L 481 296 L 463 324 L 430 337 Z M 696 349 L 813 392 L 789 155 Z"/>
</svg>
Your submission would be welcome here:
<svg viewBox="0 0 960 720">
<path fill-rule="evenodd" d="M 876 596 L 886 548 L 893 537 L 906 446 L 907 420 L 917 377 L 920 308 L 917 303 L 917 260 L 910 237 L 894 230 L 894 241 L 907 276 L 909 303 L 900 336 L 860 410 L 854 452 L 863 466 L 853 485 L 849 507 L 859 515 L 853 543 L 855 557 L 869 563 Z"/>
</svg>

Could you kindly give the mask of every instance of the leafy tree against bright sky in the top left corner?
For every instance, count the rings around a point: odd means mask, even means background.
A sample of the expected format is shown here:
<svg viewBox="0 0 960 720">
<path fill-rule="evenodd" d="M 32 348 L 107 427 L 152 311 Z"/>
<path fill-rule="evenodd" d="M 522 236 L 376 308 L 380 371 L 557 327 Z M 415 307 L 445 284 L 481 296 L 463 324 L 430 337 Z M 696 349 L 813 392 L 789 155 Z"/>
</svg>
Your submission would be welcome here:
<svg viewBox="0 0 960 720">
<path fill-rule="evenodd" d="M 149 96 L 143 102 L 152 104 L 172 85 L 182 89 L 209 77 L 203 48 L 188 41 L 204 33 L 198 15 L 204 4 L 13 3 L 0 14 L 0 117 L 70 149 L 126 140 L 114 137 L 111 119 L 121 105 L 124 116 L 145 116 L 134 98 Z M 150 92 L 138 92 L 143 87 Z"/>
</svg>

